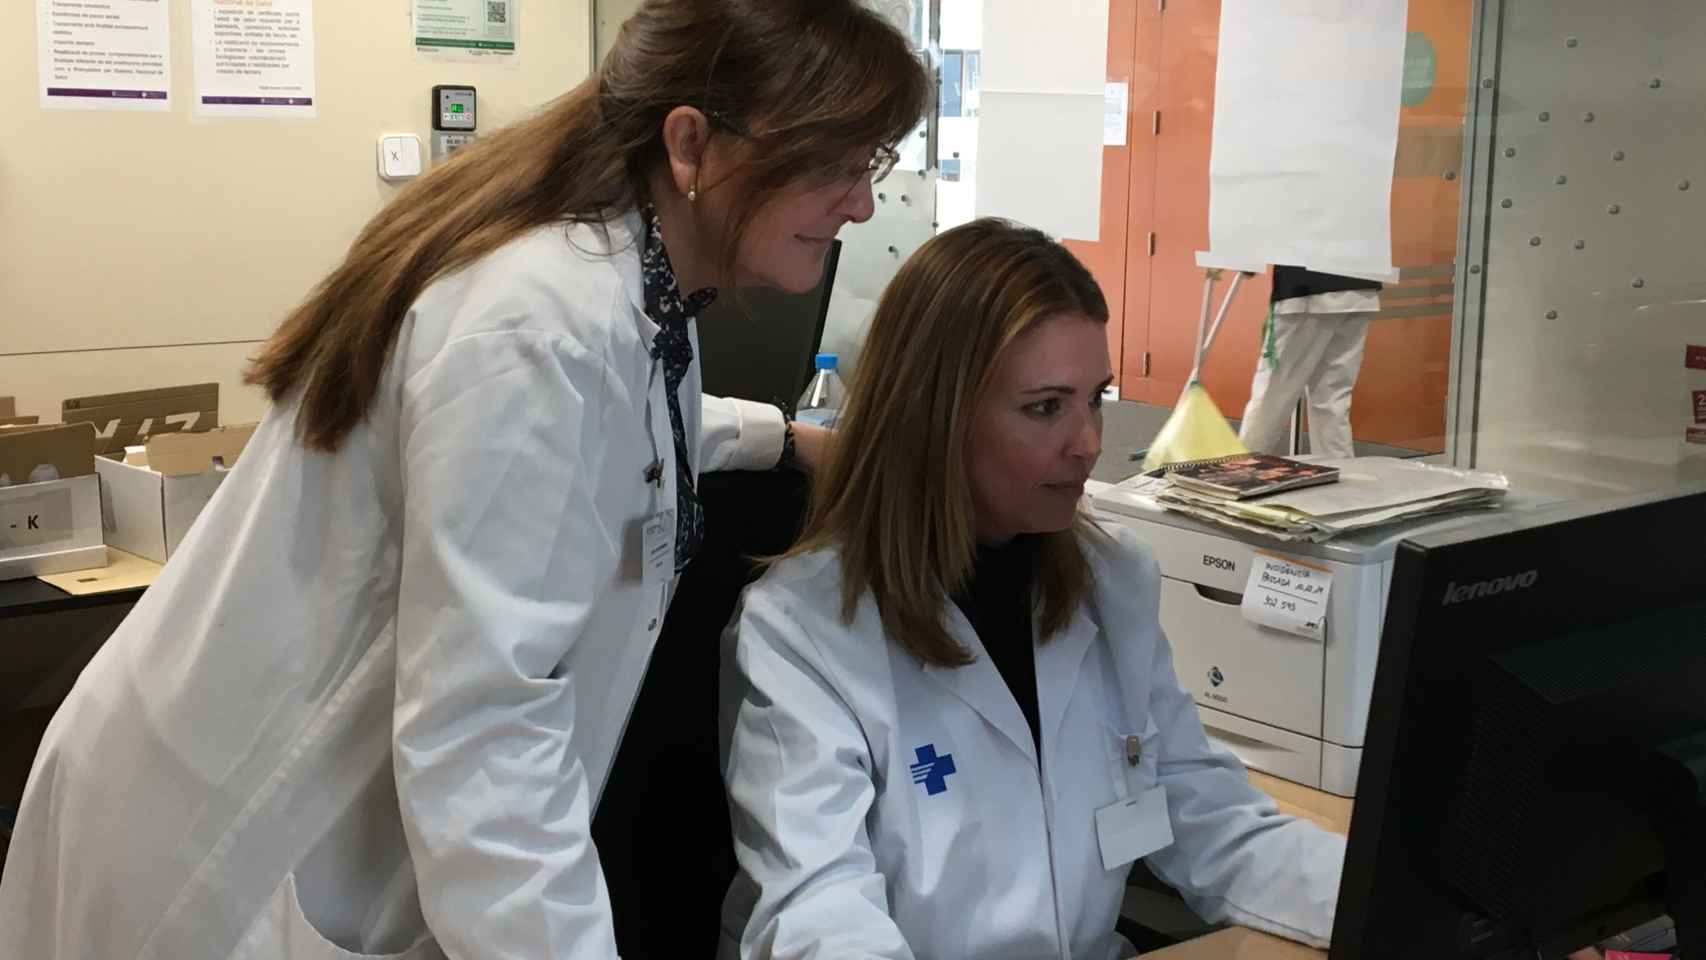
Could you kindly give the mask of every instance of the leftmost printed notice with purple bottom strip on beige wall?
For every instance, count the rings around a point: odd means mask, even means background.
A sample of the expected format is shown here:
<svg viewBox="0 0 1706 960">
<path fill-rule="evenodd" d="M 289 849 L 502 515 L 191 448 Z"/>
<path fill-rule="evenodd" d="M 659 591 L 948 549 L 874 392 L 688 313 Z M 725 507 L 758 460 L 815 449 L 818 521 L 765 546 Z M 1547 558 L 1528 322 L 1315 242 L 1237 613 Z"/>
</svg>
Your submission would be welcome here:
<svg viewBox="0 0 1706 960">
<path fill-rule="evenodd" d="M 167 10 L 167 0 L 36 0 L 41 106 L 169 111 Z"/>
</svg>

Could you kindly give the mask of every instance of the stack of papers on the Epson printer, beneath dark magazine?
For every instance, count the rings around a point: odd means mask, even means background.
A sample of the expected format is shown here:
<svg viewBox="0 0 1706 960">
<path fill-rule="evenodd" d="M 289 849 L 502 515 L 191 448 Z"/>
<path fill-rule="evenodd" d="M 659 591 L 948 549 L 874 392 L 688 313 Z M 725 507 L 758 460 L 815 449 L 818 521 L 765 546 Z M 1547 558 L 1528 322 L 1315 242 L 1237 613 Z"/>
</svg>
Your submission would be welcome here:
<svg viewBox="0 0 1706 960">
<path fill-rule="evenodd" d="M 1500 474 L 1433 467 L 1416 460 L 1358 457 L 1314 462 L 1338 467 L 1339 483 L 1254 500 L 1230 500 L 1169 483 L 1155 494 L 1155 501 L 1210 523 L 1280 541 L 1319 544 L 1353 530 L 1419 517 L 1491 510 L 1510 489 L 1510 483 Z"/>
</svg>

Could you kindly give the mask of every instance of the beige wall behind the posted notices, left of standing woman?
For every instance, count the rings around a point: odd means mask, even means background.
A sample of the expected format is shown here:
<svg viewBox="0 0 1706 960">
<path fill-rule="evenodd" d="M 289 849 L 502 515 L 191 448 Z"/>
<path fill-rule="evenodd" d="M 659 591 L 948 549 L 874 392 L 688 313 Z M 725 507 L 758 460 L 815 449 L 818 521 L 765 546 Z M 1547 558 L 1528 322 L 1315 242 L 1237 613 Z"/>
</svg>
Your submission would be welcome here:
<svg viewBox="0 0 1706 960">
<path fill-rule="evenodd" d="M 433 84 L 479 89 L 483 131 L 589 72 L 590 0 L 520 9 L 515 65 L 428 61 L 408 0 L 314 5 L 317 119 L 191 116 L 189 2 L 171 0 L 172 111 L 46 111 L 36 3 L 0 3 L 0 396 L 56 419 L 92 392 L 218 380 L 223 419 L 252 419 L 239 384 L 254 346 L 396 193 L 382 133 L 430 143 Z"/>
</svg>

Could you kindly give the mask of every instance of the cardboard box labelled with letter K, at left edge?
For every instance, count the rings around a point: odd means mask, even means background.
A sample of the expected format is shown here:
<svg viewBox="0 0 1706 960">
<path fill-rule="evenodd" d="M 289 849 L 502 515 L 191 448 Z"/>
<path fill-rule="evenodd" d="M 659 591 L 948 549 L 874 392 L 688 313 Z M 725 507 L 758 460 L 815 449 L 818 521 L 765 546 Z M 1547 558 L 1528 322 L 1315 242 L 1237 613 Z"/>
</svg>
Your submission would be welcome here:
<svg viewBox="0 0 1706 960">
<path fill-rule="evenodd" d="M 96 435 L 0 428 L 0 580 L 106 566 Z"/>
</svg>

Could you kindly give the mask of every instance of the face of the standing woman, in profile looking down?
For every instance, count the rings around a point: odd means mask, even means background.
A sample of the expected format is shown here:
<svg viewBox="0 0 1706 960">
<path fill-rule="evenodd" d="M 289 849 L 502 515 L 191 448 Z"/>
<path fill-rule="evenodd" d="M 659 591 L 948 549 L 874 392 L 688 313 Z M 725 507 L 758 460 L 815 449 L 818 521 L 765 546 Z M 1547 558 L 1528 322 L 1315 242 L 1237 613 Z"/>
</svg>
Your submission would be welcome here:
<svg viewBox="0 0 1706 960">
<path fill-rule="evenodd" d="M 824 275 L 824 256 L 846 223 L 870 220 L 870 150 L 846 164 L 807 174 L 769 198 L 740 237 L 740 285 L 805 293 Z"/>
</svg>

